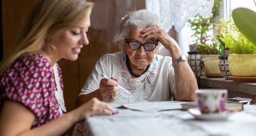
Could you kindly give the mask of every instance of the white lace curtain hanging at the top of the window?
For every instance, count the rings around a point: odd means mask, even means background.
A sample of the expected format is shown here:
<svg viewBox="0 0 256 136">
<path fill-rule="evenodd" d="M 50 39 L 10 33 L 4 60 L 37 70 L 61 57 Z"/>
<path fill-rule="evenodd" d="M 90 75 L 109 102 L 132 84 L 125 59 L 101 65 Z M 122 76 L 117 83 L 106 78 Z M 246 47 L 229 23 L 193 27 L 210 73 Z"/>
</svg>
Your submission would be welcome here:
<svg viewBox="0 0 256 136">
<path fill-rule="evenodd" d="M 189 20 L 198 13 L 203 18 L 211 14 L 214 0 L 145 0 L 146 9 L 158 14 L 163 29 L 169 31 L 172 26 L 179 32 Z"/>
</svg>

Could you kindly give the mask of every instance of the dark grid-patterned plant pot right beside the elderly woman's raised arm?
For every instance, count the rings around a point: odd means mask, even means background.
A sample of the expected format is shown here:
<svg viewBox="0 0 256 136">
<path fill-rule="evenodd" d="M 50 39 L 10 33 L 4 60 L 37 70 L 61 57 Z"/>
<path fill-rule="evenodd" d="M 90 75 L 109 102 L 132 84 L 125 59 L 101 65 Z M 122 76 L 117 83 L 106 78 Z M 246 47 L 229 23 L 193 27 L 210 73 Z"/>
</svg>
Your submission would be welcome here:
<svg viewBox="0 0 256 136">
<path fill-rule="evenodd" d="M 201 67 L 201 54 L 196 52 L 188 52 L 188 63 L 195 75 L 205 76 L 204 70 Z"/>
</svg>

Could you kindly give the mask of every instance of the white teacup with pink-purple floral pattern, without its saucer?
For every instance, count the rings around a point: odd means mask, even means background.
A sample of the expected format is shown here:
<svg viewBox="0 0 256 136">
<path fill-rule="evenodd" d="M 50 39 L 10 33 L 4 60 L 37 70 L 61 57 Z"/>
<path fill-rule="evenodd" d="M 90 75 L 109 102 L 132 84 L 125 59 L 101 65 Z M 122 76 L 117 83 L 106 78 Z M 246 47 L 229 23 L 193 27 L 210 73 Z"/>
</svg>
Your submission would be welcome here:
<svg viewBox="0 0 256 136">
<path fill-rule="evenodd" d="M 195 94 L 201 113 L 222 113 L 225 111 L 227 89 L 198 89 Z"/>
</svg>

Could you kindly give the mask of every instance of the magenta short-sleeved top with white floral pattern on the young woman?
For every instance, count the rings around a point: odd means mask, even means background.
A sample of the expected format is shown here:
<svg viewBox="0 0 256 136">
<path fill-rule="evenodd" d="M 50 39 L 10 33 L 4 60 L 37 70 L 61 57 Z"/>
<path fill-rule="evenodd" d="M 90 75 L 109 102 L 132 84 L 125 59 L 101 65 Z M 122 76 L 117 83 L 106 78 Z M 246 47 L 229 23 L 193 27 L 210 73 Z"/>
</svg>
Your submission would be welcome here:
<svg viewBox="0 0 256 136">
<path fill-rule="evenodd" d="M 63 91 L 59 66 L 58 73 Z M 61 116 L 55 98 L 54 74 L 44 54 L 27 53 L 16 59 L 1 77 L 0 88 L 0 110 L 5 100 L 20 102 L 35 114 L 31 128 Z"/>
</svg>

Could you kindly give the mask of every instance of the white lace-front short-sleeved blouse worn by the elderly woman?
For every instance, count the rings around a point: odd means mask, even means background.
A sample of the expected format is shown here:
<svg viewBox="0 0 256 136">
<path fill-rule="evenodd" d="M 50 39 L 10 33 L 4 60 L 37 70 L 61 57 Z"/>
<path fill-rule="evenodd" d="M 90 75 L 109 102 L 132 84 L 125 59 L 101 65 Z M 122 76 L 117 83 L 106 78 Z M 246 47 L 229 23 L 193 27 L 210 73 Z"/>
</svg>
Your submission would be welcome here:
<svg viewBox="0 0 256 136">
<path fill-rule="evenodd" d="M 154 56 L 154 58 L 156 55 Z M 123 52 L 105 54 L 97 62 L 82 88 L 81 94 L 88 94 L 99 88 L 101 74 L 116 77 L 119 85 L 128 90 L 131 95 L 119 91 L 113 103 L 128 103 L 147 100 L 169 101 L 175 97 L 175 76 L 171 57 L 157 55 L 147 72 L 138 78 L 131 78 L 125 64 Z"/>
</svg>

